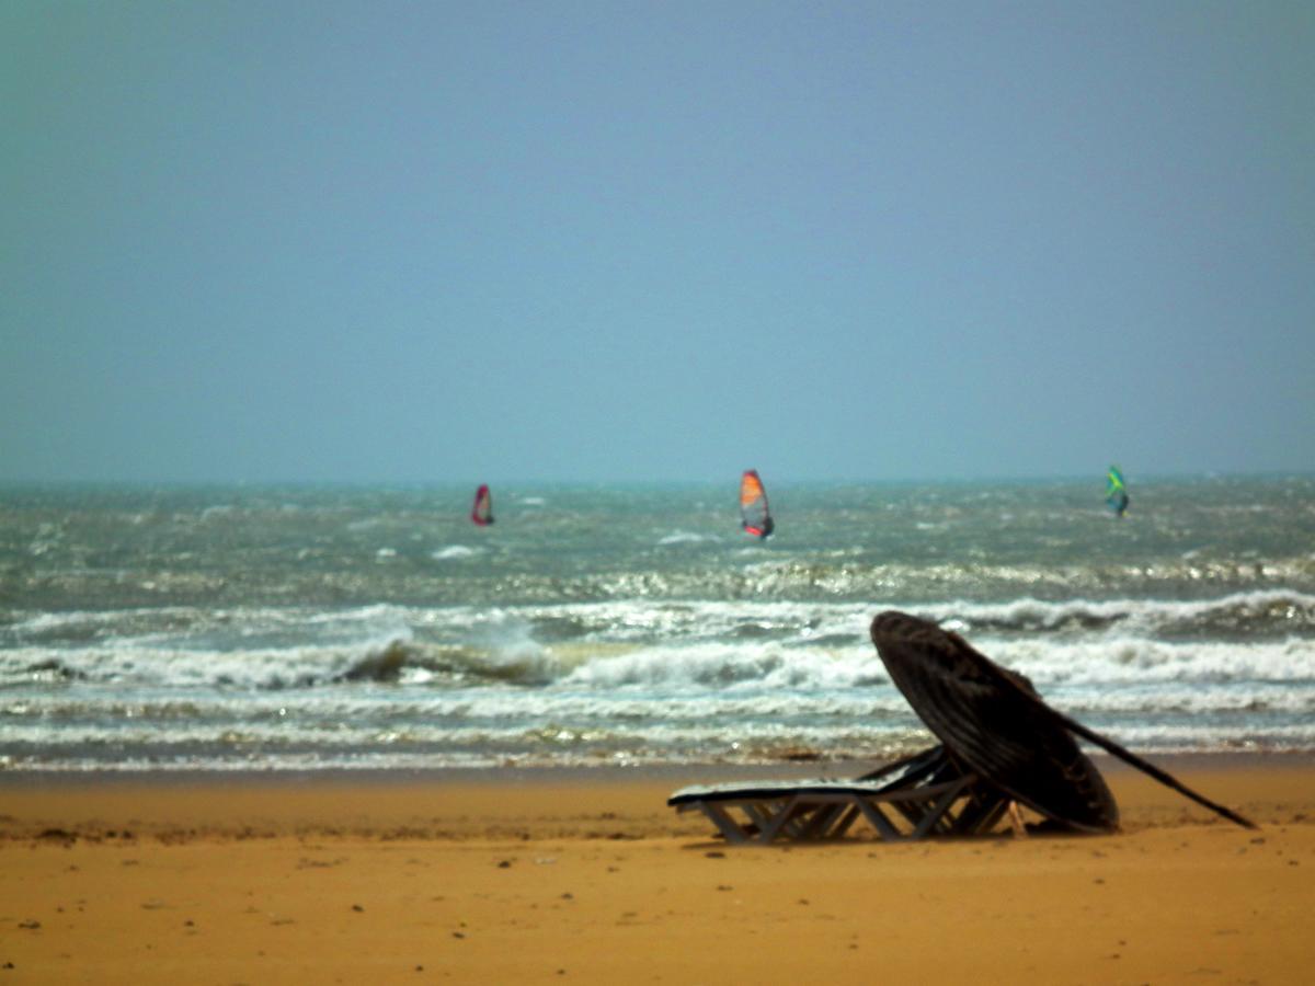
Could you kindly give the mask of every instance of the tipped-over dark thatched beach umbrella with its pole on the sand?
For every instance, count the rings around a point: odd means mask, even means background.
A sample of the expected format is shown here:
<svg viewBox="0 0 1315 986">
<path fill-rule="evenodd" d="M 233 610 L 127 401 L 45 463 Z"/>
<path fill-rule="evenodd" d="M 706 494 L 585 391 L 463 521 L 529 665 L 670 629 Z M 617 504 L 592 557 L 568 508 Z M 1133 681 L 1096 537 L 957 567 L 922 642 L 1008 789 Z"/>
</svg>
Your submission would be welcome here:
<svg viewBox="0 0 1315 986">
<path fill-rule="evenodd" d="M 890 610 L 872 621 L 872 643 L 896 688 L 952 760 L 1052 822 L 1086 832 L 1119 824 L 1114 795 L 1078 749 L 1076 735 L 1230 822 L 1256 827 L 1051 709 L 1026 677 L 994 664 L 959 634 Z"/>
</svg>

